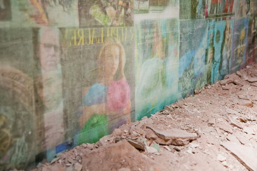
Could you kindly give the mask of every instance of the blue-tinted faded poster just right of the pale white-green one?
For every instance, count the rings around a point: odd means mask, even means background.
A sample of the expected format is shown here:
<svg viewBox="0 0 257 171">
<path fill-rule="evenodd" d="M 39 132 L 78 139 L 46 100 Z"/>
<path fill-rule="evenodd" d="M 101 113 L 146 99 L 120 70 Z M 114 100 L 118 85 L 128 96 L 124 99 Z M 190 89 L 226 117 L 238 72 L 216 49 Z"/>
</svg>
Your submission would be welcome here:
<svg viewBox="0 0 257 171">
<path fill-rule="evenodd" d="M 179 90 L 183 98 L 206 84 L 206 42 L 205 20 L 180 21 Z"/>
</svg>

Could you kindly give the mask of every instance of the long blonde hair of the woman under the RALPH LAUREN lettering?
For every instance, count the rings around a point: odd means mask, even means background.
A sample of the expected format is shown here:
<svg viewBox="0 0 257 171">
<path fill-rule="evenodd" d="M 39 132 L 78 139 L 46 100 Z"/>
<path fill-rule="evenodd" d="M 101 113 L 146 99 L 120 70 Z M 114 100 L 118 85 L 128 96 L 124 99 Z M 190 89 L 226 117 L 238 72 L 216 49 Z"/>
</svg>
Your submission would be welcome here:
<svg viewBox="0 0 257 171">
<path fill-rule="evenodd" d="M 125 75 L 124 75 L 124 65 L 126 62 L 126 56 L 125 56 L 125 50 L 122 46 L 122 44 L 114 37 L 108 37 L 105 39 L 103 46 L 101 47 L 98 57 L 97 57 L 97 61 L 98 61 L 98 76 L 97 76 L 97 80 L 99 81 L 103 74 L 104 74 L 104 63 L 105 63 L 105 59 L 104 59 L 104 52 L 105 52 L 105 48 L 107 48 L 108 46 L 111 45 L 116 45 L 119 48 L 119 64 L 118 64 L 118 70 L 117 72 L 119 73 L 119 77 L 118 79 L 125 79 Z"/>
</svg>

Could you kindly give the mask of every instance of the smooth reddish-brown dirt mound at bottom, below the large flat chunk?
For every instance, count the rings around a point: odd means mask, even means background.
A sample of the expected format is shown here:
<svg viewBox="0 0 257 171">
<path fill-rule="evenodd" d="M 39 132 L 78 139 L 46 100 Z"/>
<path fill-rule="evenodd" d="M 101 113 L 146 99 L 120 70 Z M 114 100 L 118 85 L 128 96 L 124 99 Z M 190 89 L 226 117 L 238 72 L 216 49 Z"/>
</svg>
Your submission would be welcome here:
<svg viewBox="0 0 257 171">
<path fill-rule="evenodd" d="M 110 159 L 115 162 L 111 162 Z M 167 170 L 164 166 L 141 154 L 125 139 L 85 153 L 82 156 L 82 166 L 83 171 L 116 171 L 118 166 L 131 171 L 139 171 L 139 168 L 141 171 Z"/>
</svg>

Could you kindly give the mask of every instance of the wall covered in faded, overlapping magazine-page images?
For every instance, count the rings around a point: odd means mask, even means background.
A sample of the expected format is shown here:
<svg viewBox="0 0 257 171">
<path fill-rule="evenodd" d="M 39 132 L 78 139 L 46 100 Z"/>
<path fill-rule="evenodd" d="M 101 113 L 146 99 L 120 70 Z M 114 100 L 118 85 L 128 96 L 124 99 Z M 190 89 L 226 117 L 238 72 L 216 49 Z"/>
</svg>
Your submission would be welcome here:
<svg viewBox="0 0 257 171">
<path fill-rule="evenodd" d="M 94 143 L 256 60 L 257 0 L 0 0 L 0 170 Z"/>
</svg>

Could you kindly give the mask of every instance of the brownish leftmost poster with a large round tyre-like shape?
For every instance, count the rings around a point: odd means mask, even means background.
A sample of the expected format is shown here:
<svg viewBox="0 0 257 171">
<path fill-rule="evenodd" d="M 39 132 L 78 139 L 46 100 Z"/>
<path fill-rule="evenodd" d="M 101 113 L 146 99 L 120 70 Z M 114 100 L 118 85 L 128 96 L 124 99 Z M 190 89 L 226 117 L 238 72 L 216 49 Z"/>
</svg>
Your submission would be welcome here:
<svg viewBox="0 0 257 171">
<path fill-rule="evenodd" d="M 24 168 L 38 152 L 31 29 L 0 29 L 0 47 L 0 168 Z"/>
</svg>

